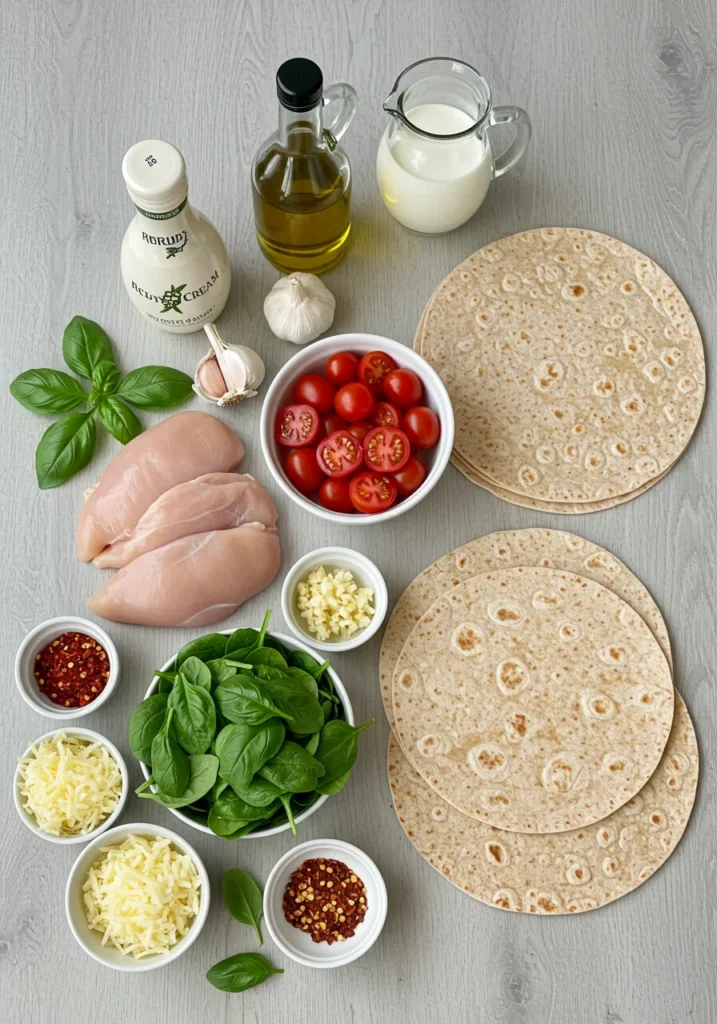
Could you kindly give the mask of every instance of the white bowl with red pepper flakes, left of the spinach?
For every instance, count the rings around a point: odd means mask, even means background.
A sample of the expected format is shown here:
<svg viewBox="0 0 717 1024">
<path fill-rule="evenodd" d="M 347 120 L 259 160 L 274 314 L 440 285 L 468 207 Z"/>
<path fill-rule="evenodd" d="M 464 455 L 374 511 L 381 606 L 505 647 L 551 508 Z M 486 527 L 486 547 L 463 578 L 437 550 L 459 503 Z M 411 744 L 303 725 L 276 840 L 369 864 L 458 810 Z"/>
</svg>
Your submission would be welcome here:
<svg viewBox="0 0 717 1024">
<path fill-rule="evenodd" d="M 81 718 L 109 700 L 120 677 L 117 648 L 87 618 L 60 615 L 32 630 L 15 657 L 15 683 L 46 718 Z"/>
</svg>

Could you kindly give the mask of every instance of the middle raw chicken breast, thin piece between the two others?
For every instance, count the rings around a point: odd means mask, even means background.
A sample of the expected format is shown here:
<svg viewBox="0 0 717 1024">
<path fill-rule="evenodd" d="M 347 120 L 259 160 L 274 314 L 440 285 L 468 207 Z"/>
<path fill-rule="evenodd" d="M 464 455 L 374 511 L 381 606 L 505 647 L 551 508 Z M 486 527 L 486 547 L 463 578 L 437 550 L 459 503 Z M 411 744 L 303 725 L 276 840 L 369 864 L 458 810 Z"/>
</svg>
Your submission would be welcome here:
<svg viewBox="0 0 717 1024">
<path fill-rule="evenodd" d="M 207 473 L 166 490 L 134 529 L 108 545 L 93 563 L 100 569 L 119 569 L 138 555 L 180 537 L 251 522 L 276 526 L 277 517 L 268 493 L 253 476 Z"/>
</svg>

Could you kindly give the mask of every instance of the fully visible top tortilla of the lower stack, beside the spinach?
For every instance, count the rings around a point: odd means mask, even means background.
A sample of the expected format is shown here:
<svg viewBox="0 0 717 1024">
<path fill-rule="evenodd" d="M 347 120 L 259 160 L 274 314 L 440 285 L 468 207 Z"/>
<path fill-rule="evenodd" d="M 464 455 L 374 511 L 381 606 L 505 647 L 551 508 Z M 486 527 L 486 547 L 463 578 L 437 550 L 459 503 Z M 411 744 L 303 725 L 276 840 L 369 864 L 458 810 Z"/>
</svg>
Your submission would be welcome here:
<svg viewBox="0 0 717 1024">
<path fill-rule="evenodd" d="M 669 664 L 611 591 L 552 568 L 439 597 L 393 673 L 396 736 L 436 793 L 499 828 L 555 833 L 630 800 L 672 725 Z"/>
</svg>

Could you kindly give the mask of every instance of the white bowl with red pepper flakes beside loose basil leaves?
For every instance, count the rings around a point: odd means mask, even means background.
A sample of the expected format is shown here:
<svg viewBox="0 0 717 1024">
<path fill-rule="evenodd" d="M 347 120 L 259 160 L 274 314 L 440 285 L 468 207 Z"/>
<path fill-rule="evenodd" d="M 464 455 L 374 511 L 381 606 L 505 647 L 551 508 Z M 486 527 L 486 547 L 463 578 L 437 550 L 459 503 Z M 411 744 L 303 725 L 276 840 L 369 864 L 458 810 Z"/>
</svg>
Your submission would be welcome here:
<svg viewBox="0 0 717 1024">
<path fill-rule="evenodd" d="M 277 945 L 306 967 L 342 967 L 363 956 L 386 920 L 381 872 L 358 847 L 311 840 L 275 866 L 264 919 Z"/>
</svg>

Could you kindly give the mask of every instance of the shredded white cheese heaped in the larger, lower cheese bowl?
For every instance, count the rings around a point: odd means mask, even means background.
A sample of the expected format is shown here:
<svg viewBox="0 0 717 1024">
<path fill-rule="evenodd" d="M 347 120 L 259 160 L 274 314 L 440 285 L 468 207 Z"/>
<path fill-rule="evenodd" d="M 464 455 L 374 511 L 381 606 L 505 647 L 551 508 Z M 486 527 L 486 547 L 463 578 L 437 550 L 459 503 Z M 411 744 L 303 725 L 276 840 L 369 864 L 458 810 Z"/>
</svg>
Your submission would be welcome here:
<svg viewBox="0 0 717 1024">
<path fill-rule="evenodd" d="M 168 952 L 199 911 L 194 860 L 159 837 L 128 836 L 101 852 L 82 887 L 89 927 L 135 959 Z"/>
</svg>

